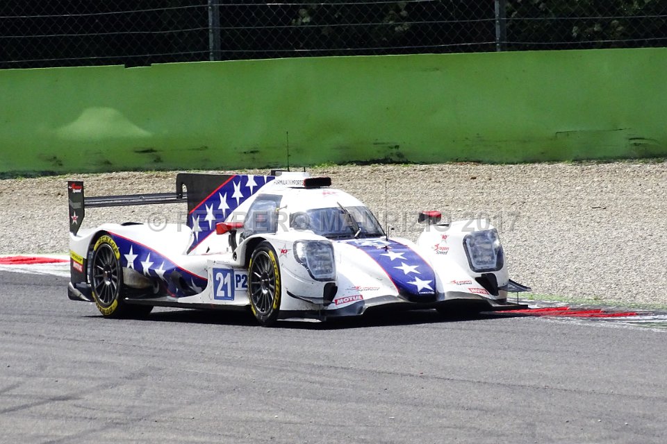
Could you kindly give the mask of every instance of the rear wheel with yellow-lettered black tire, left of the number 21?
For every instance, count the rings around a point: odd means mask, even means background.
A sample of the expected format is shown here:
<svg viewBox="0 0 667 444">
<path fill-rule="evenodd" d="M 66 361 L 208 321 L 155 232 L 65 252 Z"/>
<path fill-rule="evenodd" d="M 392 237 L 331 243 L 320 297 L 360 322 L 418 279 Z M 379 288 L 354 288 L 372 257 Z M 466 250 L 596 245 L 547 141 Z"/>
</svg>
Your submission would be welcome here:
<svg viewBox="0 0 667 444">
<path fill-rule="evenodd" d="M 103 234 L 92 248 L 90 287 L 97 309 L 105 318 L 140 318 L 151 305 L 129 305 L 123 298 L 123 269 L 115 241 Z"/>
</svg>

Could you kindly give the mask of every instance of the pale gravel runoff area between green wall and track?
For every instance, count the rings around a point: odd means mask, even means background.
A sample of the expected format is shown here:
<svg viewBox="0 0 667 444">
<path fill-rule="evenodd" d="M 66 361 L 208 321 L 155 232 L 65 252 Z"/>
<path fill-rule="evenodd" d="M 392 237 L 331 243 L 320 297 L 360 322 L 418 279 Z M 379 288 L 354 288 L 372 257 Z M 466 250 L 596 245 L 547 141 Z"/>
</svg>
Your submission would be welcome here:
<svg viewBox="0 0 667 444">
<path fill-rule="evenodd" d="M 667 162 L 433 164 L 320 167 L 361 198 L 392 235 L 416 239 L 420 210 L 486 216 L 500 232 L 511 278 L 534 293 L 667 304 Z M 267 173 L 267 171 L 248 171 Z M 0 254 L 67 253 L 68 178 L 87 196 L 173 191 L 176 172 L 0 180 Z M 88 210 L 84 226 L 184 221 L 186 205 Z"/>
</svg>

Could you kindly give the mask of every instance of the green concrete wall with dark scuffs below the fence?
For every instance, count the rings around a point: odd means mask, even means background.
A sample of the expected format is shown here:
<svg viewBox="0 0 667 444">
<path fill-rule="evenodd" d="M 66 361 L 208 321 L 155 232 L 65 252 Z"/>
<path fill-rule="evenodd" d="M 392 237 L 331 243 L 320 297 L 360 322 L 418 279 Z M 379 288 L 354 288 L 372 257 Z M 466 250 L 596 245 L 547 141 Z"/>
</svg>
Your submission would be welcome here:
<svg viewBox="0 0 667 444">
<path fill-rule="evenodd" d="M 0 173 L 667 156 L 667 48 L 0 71 Z"/>
</svg>

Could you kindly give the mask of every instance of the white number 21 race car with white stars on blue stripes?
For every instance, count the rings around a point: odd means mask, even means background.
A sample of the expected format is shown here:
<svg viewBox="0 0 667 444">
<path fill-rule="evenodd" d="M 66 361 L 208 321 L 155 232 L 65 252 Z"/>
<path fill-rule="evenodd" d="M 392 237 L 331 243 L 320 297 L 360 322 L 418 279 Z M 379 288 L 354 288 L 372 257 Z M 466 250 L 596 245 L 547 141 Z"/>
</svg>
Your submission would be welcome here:
<svg viewBox="0 0 667 444">
<path fill-rule="evenodd" d="M 507 293 L 528 290 L 509 280 L 486 221 L 445 224 L 422 212 L 416 242 L 388 237 L 368 207 L 330 185 L 307 173 L 180 173 L 175 193 L 86 198 L 83 182 L 69 181 L 69 298 L 107 318 L 156 306 L 250 309 L 272 325 L 376 307 L 512 307 Z M 90 207 L 179 202 L 188 205 L 184 225 L 81 228 Z"/>
</svg>

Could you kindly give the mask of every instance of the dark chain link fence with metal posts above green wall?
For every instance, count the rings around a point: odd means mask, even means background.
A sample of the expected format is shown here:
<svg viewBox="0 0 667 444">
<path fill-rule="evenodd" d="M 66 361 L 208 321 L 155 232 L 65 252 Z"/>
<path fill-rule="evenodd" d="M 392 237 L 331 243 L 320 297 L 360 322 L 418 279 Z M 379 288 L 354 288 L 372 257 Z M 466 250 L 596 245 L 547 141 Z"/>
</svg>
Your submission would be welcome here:
<svg viewBox="0 0 667 444">
<path fill-rule="evenodd" d="M 6 0 L 0 68 L 667 46 L 665 0 Z"/>
</svg>

